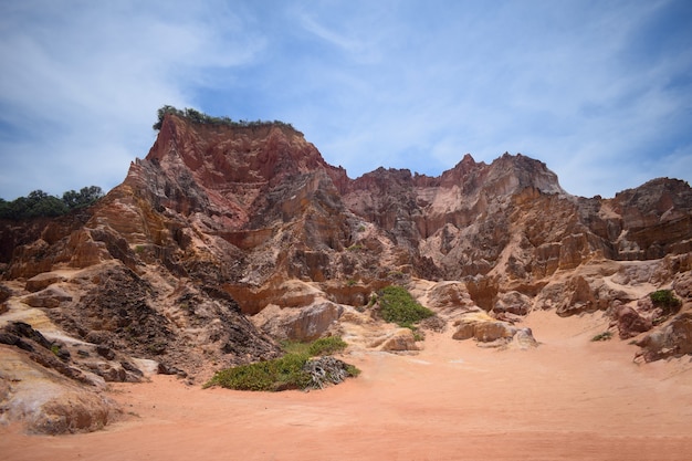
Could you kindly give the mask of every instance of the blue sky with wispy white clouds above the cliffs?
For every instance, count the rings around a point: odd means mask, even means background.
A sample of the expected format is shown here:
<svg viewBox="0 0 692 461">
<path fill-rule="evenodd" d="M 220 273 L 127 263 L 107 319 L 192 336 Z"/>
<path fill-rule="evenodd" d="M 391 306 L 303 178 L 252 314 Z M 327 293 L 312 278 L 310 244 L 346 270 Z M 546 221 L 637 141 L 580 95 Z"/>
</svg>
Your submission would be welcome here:
<svg viewBox="0 0 692 461">
<path fill-rule="evenodd" d="M 0 198 L 120 184 L 164 105 L 279 119 L 350 178 L 465 154 L 567 192 L 692 180 L 689 0 L 0 1 Z"/>
</svg>

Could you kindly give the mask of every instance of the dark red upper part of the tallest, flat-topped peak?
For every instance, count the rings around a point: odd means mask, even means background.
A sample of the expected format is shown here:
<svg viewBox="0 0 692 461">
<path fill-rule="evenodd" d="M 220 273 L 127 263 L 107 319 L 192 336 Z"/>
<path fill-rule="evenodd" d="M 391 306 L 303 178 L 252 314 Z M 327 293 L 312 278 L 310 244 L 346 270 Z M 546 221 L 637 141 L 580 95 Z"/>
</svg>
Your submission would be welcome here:
<svg viewBox="0 0 692 461">
<path fill-rule="evenodd" d="M 346 171 L 328 165 L 290 125 L 198 123 L 166 114 L 156 143 L 130 166 L 124 186 L 202 228 L 239 231 L 256 221 L 272 190 L 316 171 L 337 189 L 347 187 Z"/>
</svg>

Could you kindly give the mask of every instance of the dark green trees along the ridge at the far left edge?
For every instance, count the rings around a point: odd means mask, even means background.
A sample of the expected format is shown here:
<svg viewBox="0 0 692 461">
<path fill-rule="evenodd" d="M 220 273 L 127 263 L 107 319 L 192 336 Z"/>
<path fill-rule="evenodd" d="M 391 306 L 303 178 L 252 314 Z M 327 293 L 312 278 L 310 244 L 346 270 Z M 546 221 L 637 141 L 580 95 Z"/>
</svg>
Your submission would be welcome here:
<svg viewBox="0 0 692 461">
<path fill-rule="evenodd" d="M 38 217 L 57 217 L 88 207 L 104 196 L 98 186 L 83 187 L 80 191 L 69 190 L 62 198 L 34 190 L 27 197 L 12 201 L 0 199 L 0 218 L 22 220 Z"/>
</svg>

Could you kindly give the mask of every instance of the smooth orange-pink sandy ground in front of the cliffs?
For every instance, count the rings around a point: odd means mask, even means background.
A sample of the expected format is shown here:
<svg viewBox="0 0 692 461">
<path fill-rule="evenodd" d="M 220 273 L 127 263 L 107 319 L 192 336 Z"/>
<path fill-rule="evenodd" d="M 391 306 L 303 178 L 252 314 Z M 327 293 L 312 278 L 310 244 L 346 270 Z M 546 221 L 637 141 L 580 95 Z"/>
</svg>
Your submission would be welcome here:
<svg viewBox="0 0 692 461">
<path fill-rule="evenodd" d="M 418 355 L 352 353 L 321 391 L 240 392 L 172 377 L 114 386 L 128 418 L 88 434 L 0 428 L 1 460 L 690 460 L 689 357 L 632 363 L 600 315 L 525 322 L 537 349 L 429 334 Z"/>
</svg>

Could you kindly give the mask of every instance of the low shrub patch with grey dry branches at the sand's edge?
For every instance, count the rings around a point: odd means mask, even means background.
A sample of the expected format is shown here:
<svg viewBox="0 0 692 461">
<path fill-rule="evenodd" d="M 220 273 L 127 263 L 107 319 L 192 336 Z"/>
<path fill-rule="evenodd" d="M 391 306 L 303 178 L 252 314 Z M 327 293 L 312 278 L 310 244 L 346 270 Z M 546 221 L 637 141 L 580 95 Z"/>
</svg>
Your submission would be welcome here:
<svg viewBox="0 0 692 461">
<path fill-rule="evenodd" d="M 346 348 L 340 337 L 331 336 L 312 343 L 285 343 L 283 357 L 227 368 L 205 387 L 221 386 L 235 390 L 317 389 L 347 377 L 358 376 L 358 368 L 327 356 Z"/>
</svg>

